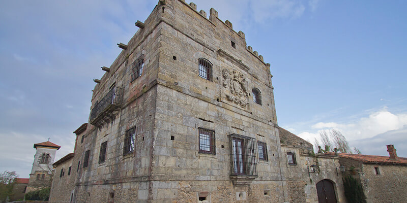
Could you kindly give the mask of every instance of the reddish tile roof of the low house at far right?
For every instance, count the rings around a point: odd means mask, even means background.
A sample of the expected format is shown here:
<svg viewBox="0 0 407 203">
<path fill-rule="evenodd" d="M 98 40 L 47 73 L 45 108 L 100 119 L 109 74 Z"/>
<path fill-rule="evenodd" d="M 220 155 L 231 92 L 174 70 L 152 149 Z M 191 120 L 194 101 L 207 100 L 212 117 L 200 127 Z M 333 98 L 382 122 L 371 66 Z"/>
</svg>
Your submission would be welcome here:
<svg viewBox="0 0 407 203">
<path fill-rule="evenodd" d="M 345 154 L 339 153 L 339 157 L 362 161 L 363 163 L 389 163 L 389 164 L 402 164 L 407 165 L 407 158 L 398 157 L 397 160 L 392 160 L 388 156 L 375 156 L 364 154 Z"/>
</svg>

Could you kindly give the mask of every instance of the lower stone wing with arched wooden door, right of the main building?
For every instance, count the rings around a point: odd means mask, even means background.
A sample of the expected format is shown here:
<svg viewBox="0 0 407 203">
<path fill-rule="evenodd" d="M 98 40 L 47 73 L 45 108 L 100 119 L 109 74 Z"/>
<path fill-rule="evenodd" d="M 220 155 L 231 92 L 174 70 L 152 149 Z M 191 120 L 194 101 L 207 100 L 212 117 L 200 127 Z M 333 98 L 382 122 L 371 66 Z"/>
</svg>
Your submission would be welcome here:
<svg viewBox="0 0 407 203">
<path fill-rule="evenodd" d="M 346 202 L 339 157 L 314 154 L 312 144 L 279 128 L 281 167 L 287 183 L 289 202 Z"/>
</svg>

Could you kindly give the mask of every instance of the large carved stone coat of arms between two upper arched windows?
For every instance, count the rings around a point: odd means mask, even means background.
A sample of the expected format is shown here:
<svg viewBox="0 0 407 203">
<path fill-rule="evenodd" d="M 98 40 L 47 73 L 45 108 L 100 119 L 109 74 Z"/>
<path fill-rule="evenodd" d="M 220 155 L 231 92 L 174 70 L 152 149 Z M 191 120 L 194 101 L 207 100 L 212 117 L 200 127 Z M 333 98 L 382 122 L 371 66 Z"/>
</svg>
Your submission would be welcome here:
<svg viewBox="0 0 407 203">
<path fill-rule="evenodd" d="M 247 78 L 237 70 L 222 70 L 223 90 L 228 101 L 247 107 Z"/>
</svg>

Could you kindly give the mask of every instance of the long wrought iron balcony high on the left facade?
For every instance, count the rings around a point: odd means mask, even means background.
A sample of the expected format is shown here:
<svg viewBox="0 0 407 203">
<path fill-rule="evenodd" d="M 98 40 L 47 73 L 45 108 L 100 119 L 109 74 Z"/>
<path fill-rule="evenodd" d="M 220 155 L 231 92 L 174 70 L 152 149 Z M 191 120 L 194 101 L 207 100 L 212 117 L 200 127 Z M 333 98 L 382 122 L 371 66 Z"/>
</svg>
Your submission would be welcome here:
<svg viewBox="0 0 407 203">
<path fill-rule="evenodd" d="M 91 111 L 90 123 L 95 126 L 101 126 L 114 119 L 114 112 L 120 110 L 123 105 L 124 90 L 119 87 L 113 87 L 111 90 L 95 105 Z"/>
</svg>

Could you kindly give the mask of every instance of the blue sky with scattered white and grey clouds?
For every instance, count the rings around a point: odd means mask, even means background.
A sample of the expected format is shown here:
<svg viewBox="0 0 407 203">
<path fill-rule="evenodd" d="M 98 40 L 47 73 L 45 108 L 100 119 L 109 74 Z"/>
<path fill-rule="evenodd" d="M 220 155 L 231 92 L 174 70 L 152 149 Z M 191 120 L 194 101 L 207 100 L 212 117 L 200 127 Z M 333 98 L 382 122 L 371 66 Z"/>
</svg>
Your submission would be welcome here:
<svg viewBox="0 0 407 203">
<path fill-rule="evenodd" d="M 158 1 L 3 1 L 0 172 L 28 177 L 34 143 L 72 152 L 95 83 Z M 188 1 L 187 1 L 188 2 Z M 188 2 L 189 3 L 189 2 Z M 194 1 L 271 63 L 278 124 L 313 143 L 339 129 L 364 154 L 407 157 L 405 1 Z"/>
</svg>

